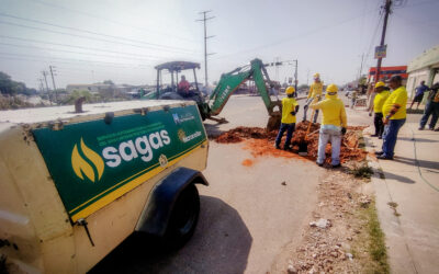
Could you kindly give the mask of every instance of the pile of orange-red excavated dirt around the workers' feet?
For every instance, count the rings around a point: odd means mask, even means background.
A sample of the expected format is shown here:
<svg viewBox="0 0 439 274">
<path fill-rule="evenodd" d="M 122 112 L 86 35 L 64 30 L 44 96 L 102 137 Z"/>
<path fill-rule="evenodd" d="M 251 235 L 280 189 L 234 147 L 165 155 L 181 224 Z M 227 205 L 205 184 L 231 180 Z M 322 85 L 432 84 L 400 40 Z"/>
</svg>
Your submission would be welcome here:
<svg viewBox="0 0 439 274">
<path fill-rule="evenodd" d="M 291 140 L 292 150 L 284 151 L 274 148 L 274 139 L 278 135 L 278 130 L 267 132 L 260 127 L 236 127 L 226 133 L 221 134 L 215 138 L 215 141 L 221 144 L 233 144 L 246 141 L 245 149 L 249 149 L 254 157 L 260 156 L 273 156 L 283 158 L 296 158 L 296 159 L 309 159 L 316 160 L 318 151 L 318 129 L 319 124 L 312 124 L 309 128 L 309 135 L 307 138 L 307 151 L 306 157 L 297 155 L 299 144 L 304 140 L 306 130 L 309 122 L 301 122 L 296 124 L 293 138 Z M 347 162 L 349 160 L 362 161 L 364 160 L 367 152 L 359 148 L 359 138 L 364 126 L 350 126 L 347 129 L 346 135 L 341 139 L 340 149 L 340 161 Z M 281 146 L 284 144 L 282 138 Z M 330 144 L 326 147 L 326 162 L 330 162 Z"/>
</svg>

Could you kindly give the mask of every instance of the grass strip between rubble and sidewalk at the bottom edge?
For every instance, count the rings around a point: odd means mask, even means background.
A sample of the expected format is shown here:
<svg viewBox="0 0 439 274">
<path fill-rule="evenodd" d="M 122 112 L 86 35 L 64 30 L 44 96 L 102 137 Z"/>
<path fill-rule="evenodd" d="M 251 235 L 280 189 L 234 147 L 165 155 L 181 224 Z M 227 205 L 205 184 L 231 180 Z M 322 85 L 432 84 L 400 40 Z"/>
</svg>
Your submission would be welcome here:
<svg viewBox="0 0 439 274">
<path fill-rule="evenodd" d="M 372 199 L 367 208 L 359 208 L 358 217 L 364 221 L 362 233 L 352 243 L 352 254 L 362 265 L 362 273 L 390 273 L 385 236 L 380 227 L 375 202 Z"/>
</svg>

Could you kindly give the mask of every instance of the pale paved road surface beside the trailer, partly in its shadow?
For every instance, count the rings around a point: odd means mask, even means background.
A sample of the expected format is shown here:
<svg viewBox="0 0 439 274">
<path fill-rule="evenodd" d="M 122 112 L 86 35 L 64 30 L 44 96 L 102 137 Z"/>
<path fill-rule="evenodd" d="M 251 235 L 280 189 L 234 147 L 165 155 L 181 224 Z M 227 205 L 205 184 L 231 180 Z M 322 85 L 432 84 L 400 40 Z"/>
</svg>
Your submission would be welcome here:
<svg viewBox="0 0 439 274">
<path fill-rule="evenodd" d="M 239 125 L 264 127 L 268 121 L 258 96 L 233 96 L 222 116 L 229 123 L 206 122 L 210 134 Z M 317 201 L 315 190 L 325 170 L 300 159 L 270 156 L 254 159 L 244 146 L 210 142 L 207 169 L 203 172 L 210 186 L 199 186 L 199 225 L 181 250 L 159 252 L 148 239 L 143 239 L 145 244 L 140 248 L 137 239 L 131 239 L 94 267 L 93 273 L 270 271 L 282 260 L 284 247 L 300 239 L 302 226 L 308 221 Z M 244 167 L 245 159 L 252 159 L 254 164 Z"/>
</svg>

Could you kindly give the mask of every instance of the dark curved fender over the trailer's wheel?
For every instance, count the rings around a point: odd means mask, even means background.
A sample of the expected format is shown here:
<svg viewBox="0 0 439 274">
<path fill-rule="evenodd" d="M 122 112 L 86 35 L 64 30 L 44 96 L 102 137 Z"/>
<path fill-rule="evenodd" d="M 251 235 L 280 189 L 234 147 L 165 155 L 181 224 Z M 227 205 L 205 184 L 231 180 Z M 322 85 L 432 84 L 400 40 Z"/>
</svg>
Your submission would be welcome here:
<svg viewBox="0 0 439 274">
<path fill-rule="evenodd" d="M 188 168 L 178 168 L 159 182 L 145 204 L 135 231 L 164 236 L 178 196 L 190 184 L 209 185 L 200 171 Z"/>
</svg>

